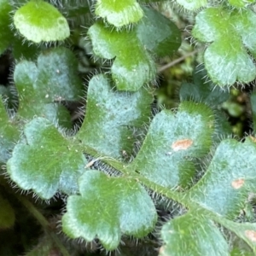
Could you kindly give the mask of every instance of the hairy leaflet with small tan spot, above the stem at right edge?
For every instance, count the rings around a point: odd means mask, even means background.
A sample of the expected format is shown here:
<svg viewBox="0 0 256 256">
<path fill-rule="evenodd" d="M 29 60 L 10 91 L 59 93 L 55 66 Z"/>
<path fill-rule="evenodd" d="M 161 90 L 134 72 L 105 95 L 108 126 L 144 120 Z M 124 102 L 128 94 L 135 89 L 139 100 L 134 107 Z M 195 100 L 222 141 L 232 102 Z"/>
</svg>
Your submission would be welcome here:
<svg viewBox="0 0 256 256">
<path fill-rule="evenodd" d="M 255 142 L 254 137 L 247 137 L 245 143 L 222 141 L 206 174 L 190 189 L 189 197 L 218 215 L 236 218 L 246 205 L 248 193 L 256 188 Z"/>
</svg>

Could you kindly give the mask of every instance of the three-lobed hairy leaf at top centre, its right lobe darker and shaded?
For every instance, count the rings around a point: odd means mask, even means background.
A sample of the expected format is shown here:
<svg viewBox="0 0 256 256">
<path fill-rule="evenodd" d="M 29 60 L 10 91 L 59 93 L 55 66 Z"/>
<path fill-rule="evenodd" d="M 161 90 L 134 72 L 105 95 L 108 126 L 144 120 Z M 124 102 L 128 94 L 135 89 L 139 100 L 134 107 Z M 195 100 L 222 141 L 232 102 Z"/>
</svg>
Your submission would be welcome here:
<svg viewBox="0 0 256 256">
<path fill-rule="evenodd" d="M 117 32 L 101 22 L 88 31 L 94 54 L 108 60 L 115 58 L 111 72 L 118 90 L 138 90 L 155 78 L 154 59 L 148 50 L 162 56 L 172 54 L 180 45 L 180 32 L 171 20 L 152 9 L 144 12 L 145 18 L 133 31 Z"/>
</svg>

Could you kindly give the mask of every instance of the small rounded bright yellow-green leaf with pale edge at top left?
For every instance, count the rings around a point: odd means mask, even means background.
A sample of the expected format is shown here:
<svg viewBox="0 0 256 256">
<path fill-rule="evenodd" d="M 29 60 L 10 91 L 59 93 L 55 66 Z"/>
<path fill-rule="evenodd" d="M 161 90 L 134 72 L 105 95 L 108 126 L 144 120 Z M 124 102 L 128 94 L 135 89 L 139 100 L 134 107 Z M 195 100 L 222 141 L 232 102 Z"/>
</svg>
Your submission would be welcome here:
<svg viewBox="0 0 256 256">
<path fill-rule="evenodd" d="M 64 40 L 69 37 L 67 20 L 49 3 L 30 1 L 15 12 L 15 27 L 35 43 Z"/>
</svg>

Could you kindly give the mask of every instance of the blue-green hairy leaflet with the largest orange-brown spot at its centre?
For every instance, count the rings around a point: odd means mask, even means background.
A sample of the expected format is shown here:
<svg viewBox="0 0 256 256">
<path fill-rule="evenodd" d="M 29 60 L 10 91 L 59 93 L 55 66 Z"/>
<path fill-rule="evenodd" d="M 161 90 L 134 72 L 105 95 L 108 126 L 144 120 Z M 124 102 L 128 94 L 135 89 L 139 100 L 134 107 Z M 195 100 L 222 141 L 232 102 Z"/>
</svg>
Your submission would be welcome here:
<svg viewBox="0 0 256 256">
<path fill-rule="evenodd" d="M 194 102 L 182 102 L 176 114 L 156 114 L 131 168 L 167 188 L 187 187 L 195 174 L 193 158 L 212 145 L 213 120 L 210 108 Z"/>
</svg>

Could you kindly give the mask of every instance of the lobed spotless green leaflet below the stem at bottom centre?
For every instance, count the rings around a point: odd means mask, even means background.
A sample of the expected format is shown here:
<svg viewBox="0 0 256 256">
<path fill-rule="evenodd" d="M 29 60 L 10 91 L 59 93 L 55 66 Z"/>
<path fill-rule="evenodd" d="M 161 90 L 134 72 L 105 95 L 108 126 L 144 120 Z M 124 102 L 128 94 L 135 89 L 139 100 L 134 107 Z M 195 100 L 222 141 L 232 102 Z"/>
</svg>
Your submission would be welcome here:
<svg viewBox="0 0 256 256">
<path fill-rule="evenodd" d="M 122 234 L 139 238 L 154 229 L 154 203 L 137 181 L 88 171 L 79 178 L 79 190 L 81 195 L 68 197 L 62 218 L 67 236 L 86 241 L 97 236 L 106 249 L 113 250 Z"/>
</svg>

